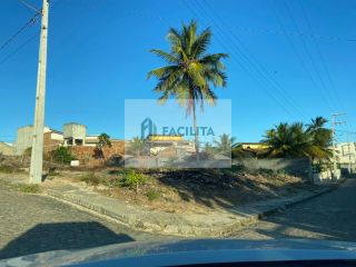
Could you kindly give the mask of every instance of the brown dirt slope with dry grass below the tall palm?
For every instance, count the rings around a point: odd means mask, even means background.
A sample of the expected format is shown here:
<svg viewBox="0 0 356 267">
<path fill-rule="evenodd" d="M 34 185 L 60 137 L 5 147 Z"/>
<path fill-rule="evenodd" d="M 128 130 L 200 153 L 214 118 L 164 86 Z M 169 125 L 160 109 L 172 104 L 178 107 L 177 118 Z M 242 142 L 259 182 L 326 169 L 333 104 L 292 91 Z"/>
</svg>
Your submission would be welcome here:
<svg viewBox="0 0 356 267">
<path fill-rule="evenodd" d="M 101 169 L 96 172 L 61 171 L 58 178 L 75 182 L 82 177 L 93 190 L 129 204 L 142 205 L 168 212 L 206 214 L 211 209 L 229 209 L 238 205 L 284 197 L 315 186 L 305 179 L 268 170 L 149 170 L 144 171 L 147 182 L 135 188 L 112 186 L 120 180 L 121 169 Z M 55 177 L 55 179 L 58 179 Z M 82 181 L 81 181 L 82 182 Z M 108 185 L 109 184 L 109 185 Z"/>
</svg>

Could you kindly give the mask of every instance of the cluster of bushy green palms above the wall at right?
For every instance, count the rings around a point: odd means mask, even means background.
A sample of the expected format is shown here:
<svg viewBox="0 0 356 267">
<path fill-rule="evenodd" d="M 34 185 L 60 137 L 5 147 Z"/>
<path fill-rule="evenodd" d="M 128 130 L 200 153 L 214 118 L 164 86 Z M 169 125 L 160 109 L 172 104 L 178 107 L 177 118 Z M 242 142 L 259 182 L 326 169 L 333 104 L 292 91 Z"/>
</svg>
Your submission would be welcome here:
<svg viewBox="0 0 356 267">
<path fill-rule="evenodd" d="M 317 117 L 305 129 L 301 122 L 279 123 L 266 132 L 263 142 L 269 146 L 270 158 L 308 157 L 312 160 L 329 160 L 332 131 L 324 128 L 326 119 Z"/>
</svg>

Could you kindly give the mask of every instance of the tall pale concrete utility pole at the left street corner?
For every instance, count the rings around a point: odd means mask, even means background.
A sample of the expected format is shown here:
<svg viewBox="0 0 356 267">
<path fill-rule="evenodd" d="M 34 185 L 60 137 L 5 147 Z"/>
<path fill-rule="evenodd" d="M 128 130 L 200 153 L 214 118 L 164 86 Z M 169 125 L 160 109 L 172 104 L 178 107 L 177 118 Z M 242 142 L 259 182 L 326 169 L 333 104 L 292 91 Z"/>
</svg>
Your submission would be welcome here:
<svg viewBox="0 0 356 267">
<path fill-rule="evenodd" d="M 43 0 L 30 167 L 31 184 L 42 181 L 48 10 L 49 0 Z"/>
</svg>

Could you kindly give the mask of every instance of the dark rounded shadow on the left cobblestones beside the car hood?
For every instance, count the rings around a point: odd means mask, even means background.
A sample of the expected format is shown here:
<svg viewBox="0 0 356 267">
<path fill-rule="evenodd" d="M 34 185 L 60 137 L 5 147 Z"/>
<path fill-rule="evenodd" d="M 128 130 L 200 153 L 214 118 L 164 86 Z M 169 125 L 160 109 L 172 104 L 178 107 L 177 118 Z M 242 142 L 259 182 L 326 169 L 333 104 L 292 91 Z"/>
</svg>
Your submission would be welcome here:
<svg viewBox="0 0 356 267">
<path fill-rule="evenodd" d="M 60 249 L 85 249 L 134 241 L 96 221 L 39 224 L 0 250 L 0 259 Z"/>
</svg>

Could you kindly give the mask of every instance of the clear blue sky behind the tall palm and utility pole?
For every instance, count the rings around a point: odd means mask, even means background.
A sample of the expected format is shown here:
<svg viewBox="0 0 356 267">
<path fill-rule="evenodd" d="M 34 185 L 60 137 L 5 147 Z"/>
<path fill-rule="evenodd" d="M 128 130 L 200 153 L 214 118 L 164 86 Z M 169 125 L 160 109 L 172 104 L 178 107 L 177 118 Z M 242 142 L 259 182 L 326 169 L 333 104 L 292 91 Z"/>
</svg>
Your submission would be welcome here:
<svg viewBox="0 0 356 267">
<path fill-rule="evenodd" d="M 122 138 L 125 99 L 156 97 L 155 80 L 146 77 L 162 62 L 148 50 L 168 50 L 169 27 L 196 19 L 201 29 L 211 27 L 209 51 L 230 55 L 228 87 L 216 93 L 231 99 L 238 141 L 258 141 L 279 121 L 308 122 L 337 111 L 346 111 L 349 122 L 339 129 L 355 130 L 356 1 L 52 2 L 46 99 L 46 125 L 52 128 L 77 121 L 89 134 Z M 0 46 L 32 14 L 20 1 L 2 0 Z M 0 50 L 0 139 L 6 141 L 33 120 L 39 40 L 27 41 L 38 31 L 34 24 Z"/>
</svg>

